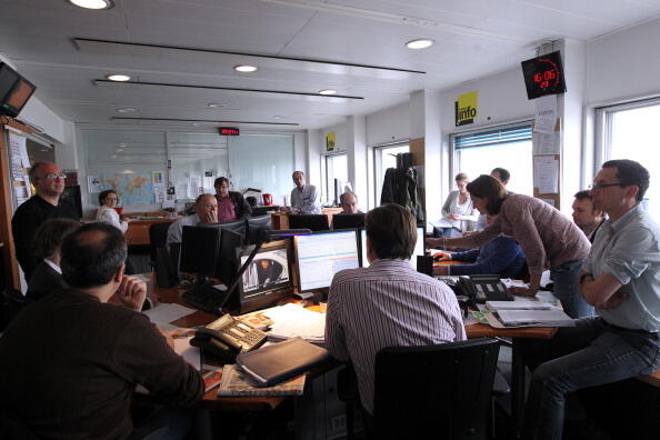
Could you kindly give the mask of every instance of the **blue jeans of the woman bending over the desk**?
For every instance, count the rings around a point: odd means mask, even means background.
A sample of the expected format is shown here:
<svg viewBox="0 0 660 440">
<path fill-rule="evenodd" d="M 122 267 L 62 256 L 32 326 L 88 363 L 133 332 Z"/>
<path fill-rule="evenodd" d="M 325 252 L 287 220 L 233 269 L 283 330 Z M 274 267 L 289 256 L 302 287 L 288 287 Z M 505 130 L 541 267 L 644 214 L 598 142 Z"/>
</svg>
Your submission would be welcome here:
<svg viewBox="0 0 660 440">
<path fill-rule="evenodd" d="M 566 314 L 574 319 L 594 316 L 593 306 L 584 301 L 580 292 L 582 262 L 582 260 L 569 261 L 550 269 L 552 293 L 561 301 Z"/>
</svg>

